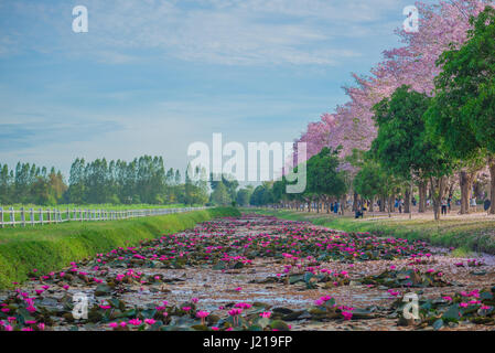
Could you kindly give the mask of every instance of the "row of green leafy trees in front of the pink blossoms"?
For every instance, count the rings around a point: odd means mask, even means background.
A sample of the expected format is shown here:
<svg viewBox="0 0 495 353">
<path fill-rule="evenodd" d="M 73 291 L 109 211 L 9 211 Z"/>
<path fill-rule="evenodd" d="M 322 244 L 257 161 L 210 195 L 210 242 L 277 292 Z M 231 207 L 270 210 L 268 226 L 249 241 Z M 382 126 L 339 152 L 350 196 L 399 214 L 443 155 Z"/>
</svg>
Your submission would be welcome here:
<svg viewBox="0 0 495 353">
<path fill-rule="evenodd" d="M 452 193 L 452 178 L 459 174 L 461 213 L 466 213 L 473 175 L 486 168 L 493 199 L 494 8 L 486 7 L 471 18 L 470 24 L 464 43 L 450 45 L 435 62 L 439 73 L 430 95 L 401 85 L 372 107 L 376 135 L 369 149 L 354 148 L 340 158 L 341 148 L 324 147 L 306 161 L 308 188 L 303 194 L 280 193 L 284 190 L 280 185 L 286 183 L 282 179 L 258 186 L 251 203 L 292 206 L 306 202 L 311 208 L 314 203 L 342 200 L 352 190 L 354 207 L 361 204 L 359 199 L 380 200 L 380 208 L 386 202 L 391 207 L 401 194 L 405 211 L 410 212 L 412 193 L 418 190 L 419 211 L 424 212 L 430 199 L 434 217 L 440 218 L 441 203 Z M 493 200 L 489 212 L 495 214 Z"/>
</svg>

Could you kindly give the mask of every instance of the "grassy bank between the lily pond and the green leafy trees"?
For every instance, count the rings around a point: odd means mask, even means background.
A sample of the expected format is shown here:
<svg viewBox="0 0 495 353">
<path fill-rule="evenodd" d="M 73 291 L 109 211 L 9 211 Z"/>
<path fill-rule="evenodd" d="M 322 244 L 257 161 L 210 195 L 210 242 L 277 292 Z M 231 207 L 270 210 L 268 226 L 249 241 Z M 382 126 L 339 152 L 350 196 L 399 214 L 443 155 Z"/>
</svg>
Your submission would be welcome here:
<svg viewBox="0 0 495 353">
<path fill-rule="evenodd" d="M 456 247 L 456 254 L 470 252 L 495 254 L 495 222 L 493 220 L 355 220 L 326 214 L 291 211 L 245 210 L 292 221 L 308 221 L 315 225 L 344 232 L 370 232 L 376 235 L 427 240 L 432 245 Z"/>
</svg>

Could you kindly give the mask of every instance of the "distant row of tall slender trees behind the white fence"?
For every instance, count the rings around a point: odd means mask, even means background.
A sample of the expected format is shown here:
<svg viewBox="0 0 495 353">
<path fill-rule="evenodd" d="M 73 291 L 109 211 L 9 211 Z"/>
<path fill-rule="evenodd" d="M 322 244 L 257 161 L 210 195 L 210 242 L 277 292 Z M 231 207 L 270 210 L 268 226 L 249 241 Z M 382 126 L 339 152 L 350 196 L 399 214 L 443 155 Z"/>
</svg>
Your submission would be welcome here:
<svg viewBox="0 0 495 353">
<path fill-rule="evenodd" d="M 222 183 L 223 186 L 225 186 Z M 227 182 L 228 199 L 209 197 L 204 170 L 190 170 L 185 179 L 179 170 L 165 170 L 162 157 L 143 156 L 131 162 L 76 159 L 68 184 L 61 171 L 18 163 L 14 170 L 0 164 L 0 205 L 39 204 L 227 204 L 235 197 L 233 181 Z M 216 186 L 216 185 L 215 185 Z M 233 195 L 233 196 L 230 196 Z"/>
</svg>

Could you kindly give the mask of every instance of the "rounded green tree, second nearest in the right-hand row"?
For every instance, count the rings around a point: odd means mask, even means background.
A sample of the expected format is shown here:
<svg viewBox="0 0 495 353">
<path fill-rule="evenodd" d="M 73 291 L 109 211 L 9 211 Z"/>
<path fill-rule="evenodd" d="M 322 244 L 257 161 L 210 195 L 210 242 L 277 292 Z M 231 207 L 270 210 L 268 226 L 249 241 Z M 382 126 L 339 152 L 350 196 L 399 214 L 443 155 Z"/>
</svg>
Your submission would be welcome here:
<svg viewBox="0 0 495 353">
<path fill-rule="evenodd" d="M 410 189 L 413 176 L 430 182 L 434 218 L 439 220 L 452 160 L 427 133 L 424 113 L 430 98 L 409 88 L 403 85 L 374 106 L 378 132 L 372 142 L 372 151 L 384 169 L 396 179 L 408 181 Z"/>
</svg>

